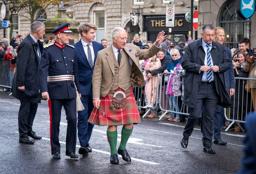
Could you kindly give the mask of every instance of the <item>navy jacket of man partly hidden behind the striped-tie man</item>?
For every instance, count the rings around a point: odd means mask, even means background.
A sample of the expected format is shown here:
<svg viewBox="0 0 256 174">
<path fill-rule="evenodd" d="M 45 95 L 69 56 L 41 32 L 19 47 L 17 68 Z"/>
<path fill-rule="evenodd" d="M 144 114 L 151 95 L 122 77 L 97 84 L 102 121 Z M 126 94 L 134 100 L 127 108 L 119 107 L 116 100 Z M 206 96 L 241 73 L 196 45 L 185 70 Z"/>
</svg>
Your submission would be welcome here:
<svg viewBox="0 0 256 174">
<path fill-rule="evenodd" d="M 236 87 L 234 68 L 233 68 L 233 62 L 232 62 L 233 59 L 231 55 L 231 50 L 228 47 L 224 46 L 224 51 L 230 60 L 230 68 L 228 69 L 228 71 L 224 72 L 225 89 L 229 93 L 230 88 Z"/>
</svg>

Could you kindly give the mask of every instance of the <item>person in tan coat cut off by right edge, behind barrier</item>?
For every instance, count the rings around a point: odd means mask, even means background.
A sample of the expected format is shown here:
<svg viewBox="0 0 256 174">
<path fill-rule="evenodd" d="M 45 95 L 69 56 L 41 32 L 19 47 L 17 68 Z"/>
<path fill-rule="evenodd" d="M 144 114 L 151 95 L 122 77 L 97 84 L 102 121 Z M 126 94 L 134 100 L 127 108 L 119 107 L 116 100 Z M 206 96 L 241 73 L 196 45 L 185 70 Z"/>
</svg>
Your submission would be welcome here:
<svg viewBox="0 0 256 174">
<path fill-rule="evenodd" d="M 254 50 L 254 54 L 256 54 L 256 50 Z M 249 56 L 247 55 L 246 57 L 246 62 L 243 66 L 244 71 L 249 72 L 249 78 L 256 78 L 256 57 L 253 56 Z M 253 104 L 253 109 L 254 111 L 256 110 L 256 103 L 255 103 L 255 99 L 256 99 L 256 80 L 249 80 L 248 81 L 249 85 L 247 85 L 248 90 L 251 89 L 252 92 L 252 104 Z M 250 88 L 250 89 L 249 89 Z M 247 90 L 247 91 L 248 91 Z"/>
</svg>

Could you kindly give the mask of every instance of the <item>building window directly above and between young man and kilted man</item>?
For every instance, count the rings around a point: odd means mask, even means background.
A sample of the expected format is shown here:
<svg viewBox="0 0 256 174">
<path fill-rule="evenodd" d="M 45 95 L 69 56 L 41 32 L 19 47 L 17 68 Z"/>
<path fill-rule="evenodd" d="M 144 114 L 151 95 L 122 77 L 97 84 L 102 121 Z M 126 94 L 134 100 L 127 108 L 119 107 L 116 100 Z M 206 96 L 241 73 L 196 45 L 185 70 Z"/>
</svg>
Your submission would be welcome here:
<svg viewBox="0 0 256 174">
<path fill-rule="evenodd" d="M 96 11 L 94 12 L 94 24 L 98 27 L 96 31 L 96 41 L 100 42 L 101 39 L 105 38 L 105 12 Z"/>
</svg>

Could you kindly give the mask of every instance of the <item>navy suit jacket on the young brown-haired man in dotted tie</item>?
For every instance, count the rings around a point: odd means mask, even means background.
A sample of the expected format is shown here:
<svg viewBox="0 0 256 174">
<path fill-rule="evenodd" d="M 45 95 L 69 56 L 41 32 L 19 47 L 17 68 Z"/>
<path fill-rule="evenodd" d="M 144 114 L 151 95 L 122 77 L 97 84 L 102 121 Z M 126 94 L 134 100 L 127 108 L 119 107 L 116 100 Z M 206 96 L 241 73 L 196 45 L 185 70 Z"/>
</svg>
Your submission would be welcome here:
<svg viewBox="0 0 256 174">
<path fill-rule="evenodd" d="M 81 39 L 73 45 L 76 51 L 76 58 L 78 63 L 78 72 L 79 72 L 79 85 L 80 85 L 80 92 L 81 95 L 88 95 L 92 88 L 92 74 L 94 65 L 97 59 L 98 52 L 104 49 L 103 45 L 99 42 L 93 41 L 92 46 L 94 50 L 94 63 L 93 67 L 91 68 L 88 59 L 84 52 L 84 46 L 81 42 Z"/>
</svg>

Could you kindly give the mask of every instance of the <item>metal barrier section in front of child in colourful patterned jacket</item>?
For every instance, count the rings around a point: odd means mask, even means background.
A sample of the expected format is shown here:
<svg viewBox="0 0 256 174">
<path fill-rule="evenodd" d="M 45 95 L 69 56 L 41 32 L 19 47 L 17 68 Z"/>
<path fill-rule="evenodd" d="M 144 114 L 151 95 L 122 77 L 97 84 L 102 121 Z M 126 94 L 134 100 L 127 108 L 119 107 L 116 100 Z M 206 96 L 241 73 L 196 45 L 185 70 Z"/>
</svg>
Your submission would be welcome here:
<svg viewBox="0 0 256 174">
<path fill-rule="evenodd" d="M 169 94 L 166 94 L 167 90 L 167 84 L 163 83 L 163 78 L 165 78 L 167 75 L 170 74 L 177 75 L 176 73 L 166 73 L 162 74 L 160 78 L 160 91 L 159 91 L 159 107 L 162 111 L 165 111 L 158 120 L 163 119 L 164 115 L 168 113 L 172 113 L 173 115 L 179 114 L 179 115 L 189 115 L 188 113 L 188 107 L 183 105 L 183 101 L 181 100 L 181 96 L 172 96 Z M 168 77 L 167 76 L 167 77 Z M 166 79 L 167 80 L 167 79 Z M 169 80 L 169 78 L 168 78 Z M 163 85 L 164 84 L 164 85 Z M 181 90 L 182 92 L 182 90 Z M 171 106 L 172 104 L 172 106 Z"/>
</svg>

